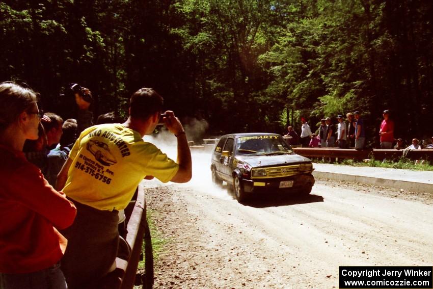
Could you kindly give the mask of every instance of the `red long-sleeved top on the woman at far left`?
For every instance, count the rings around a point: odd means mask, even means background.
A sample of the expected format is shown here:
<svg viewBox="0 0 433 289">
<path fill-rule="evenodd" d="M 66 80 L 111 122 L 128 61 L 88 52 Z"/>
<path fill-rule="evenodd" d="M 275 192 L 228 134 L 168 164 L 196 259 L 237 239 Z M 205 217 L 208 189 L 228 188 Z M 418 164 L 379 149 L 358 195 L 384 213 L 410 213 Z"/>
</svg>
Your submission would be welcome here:
<svg viewBox="0 0 433 289">
<path fill-rule="evenodd" d="M 21 151 L 0 145 L 0 272 L 30 273 L 56 264 L 75 205 L 53 189 Z"/>
</svg>

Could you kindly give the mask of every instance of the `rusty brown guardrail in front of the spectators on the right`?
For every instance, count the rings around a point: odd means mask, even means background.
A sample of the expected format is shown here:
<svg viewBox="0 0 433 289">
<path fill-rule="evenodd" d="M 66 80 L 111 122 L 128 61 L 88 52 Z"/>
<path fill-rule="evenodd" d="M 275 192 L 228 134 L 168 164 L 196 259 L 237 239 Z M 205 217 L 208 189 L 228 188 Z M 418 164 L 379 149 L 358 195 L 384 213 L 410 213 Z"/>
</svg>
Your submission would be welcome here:
<svg viewBox="0 0 433 289">
<path fill-rule="evenodd" d="M 353 159 L 361 161 L 374 158 L 375 160 L 396 160 L 403 155 L 403 150 L 398 149 L 362 149 L 353 148 L 317 148 L 317 147 L 294 147 L 294 152 L 305 157 L 330 157 L 338 159 Z M 411 160 L 433 160 L 433 149 L 414 149 L 407 152 Z"/>
</svg>

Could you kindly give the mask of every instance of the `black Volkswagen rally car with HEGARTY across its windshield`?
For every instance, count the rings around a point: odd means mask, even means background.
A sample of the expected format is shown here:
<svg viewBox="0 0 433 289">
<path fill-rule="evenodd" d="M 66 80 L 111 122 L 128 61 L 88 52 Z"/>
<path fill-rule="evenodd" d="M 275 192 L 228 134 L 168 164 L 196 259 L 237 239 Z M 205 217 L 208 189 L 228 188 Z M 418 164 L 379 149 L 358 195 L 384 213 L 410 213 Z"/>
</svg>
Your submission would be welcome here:
<svg viewBox="0 0 433 289">
<path fill-rule="evenodd" d="M 243 201 L 264 191 L 297 191 L 309 194 L 314 185 L 311 160 L 295 154 L 277 134 L 230 134 L 220 138 L 212 153 L 212 180 L 233 186 Z"/>
</svg>

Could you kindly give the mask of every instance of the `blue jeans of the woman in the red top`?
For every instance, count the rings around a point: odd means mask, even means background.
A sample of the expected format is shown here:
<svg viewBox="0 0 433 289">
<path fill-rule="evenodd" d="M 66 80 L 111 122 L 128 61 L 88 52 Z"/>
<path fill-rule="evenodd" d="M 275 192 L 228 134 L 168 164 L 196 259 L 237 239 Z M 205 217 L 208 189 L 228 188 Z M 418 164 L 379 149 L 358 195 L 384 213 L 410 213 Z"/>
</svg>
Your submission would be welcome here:
<svg viewBox="0 0 433 289">
<path fill-rule="evenodd" d="M 0 273 L 0 289 L 66 289 L 60 264 L 31 273 Z"/>
</svg>

